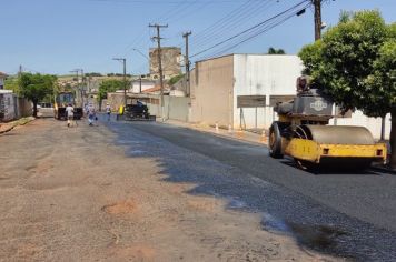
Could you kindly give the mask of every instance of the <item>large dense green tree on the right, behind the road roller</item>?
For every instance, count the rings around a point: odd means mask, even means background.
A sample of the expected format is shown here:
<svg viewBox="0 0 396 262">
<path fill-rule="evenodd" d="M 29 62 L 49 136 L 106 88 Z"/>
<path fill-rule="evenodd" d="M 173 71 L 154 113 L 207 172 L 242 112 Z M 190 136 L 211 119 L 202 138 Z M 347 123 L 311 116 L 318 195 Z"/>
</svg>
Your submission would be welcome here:
<svg viewBox="0 0 396 262">
<path fill-rule="evenodd" d="M 396 24 L 378 11 L 343 12 L 321 40 L 299 52 L 305 73 L 344 110 L 392 114 L 390 165 L 396 169 Z"/>
</svg>

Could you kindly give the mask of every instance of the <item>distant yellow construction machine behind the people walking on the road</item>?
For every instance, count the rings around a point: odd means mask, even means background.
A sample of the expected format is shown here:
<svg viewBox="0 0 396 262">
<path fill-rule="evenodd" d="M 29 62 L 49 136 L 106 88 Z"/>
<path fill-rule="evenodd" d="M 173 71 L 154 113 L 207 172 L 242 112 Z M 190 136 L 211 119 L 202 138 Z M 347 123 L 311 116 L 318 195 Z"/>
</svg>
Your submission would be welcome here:
<svg viewBox="0 0 396 262">
<path fill-rule="evenodd" d="M 57 120 L 66 120 L 66 108 L 70 103 L 75 108 L 75 119 L 80 120 L 83 115 L 82 105 L 76 104 L 73 92 L 60 92 L 56 95 L 53 104 L 53 117 Z"/>
</svg>

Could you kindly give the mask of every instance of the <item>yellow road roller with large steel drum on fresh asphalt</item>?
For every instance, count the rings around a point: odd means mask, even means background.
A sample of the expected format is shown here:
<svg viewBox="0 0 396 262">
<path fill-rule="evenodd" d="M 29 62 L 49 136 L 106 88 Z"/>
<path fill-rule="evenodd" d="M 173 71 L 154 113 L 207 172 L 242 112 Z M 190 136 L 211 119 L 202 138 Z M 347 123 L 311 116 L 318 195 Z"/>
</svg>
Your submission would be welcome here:
<svg viewBox="0 0 396 262">
<path fill-rule="evenodd" d="M 297 97 L 278 103 L 279 120 L 269 130 L 273 158 L 289 155 L 301 169 L 321 165 L 366 169 L 374 161 L 386 161 L 386 145 L 375 143 L 363 127 L 327 125 L 333 102 L 319 89 L 310 89 L 309 79 L 297 79 Z"/>
</svg>

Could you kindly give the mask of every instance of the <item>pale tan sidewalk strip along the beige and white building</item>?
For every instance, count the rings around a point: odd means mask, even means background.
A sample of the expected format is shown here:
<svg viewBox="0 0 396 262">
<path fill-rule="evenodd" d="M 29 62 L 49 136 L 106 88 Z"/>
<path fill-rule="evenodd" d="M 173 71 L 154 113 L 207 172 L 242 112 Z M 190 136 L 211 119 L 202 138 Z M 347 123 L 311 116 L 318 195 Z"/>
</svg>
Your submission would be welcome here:
<svg viewBox="0 0 396 262">
<path fill-rule="evenodd" d="M 200 132 L 206 132 L 206 133 L 211 133 L 218 137 L 224 137 L 224 138 L 229 138 L 229 139 L 235 139 L 235 140 L 241 140 L 245 142 L 249 143 L 256 143 L 256 144 L 264 144 L 268 145 L 268 137 L 267 135 L 261 135 L 258 133 L 253 133 L 244 130 L 226 130 L 226 129 L 216 129 L 216 127 L 211 127 L 208 124 L 196 124 L 196 123 L 186 123 L 182 121 L 177 121 L 177 120 L 166 120 L 165 122 L 157 121 L 159 123 L 164 124 L 170 124 L 170 125 L 177 125 L 181 128 L 188 128 L 192 130 L 197 130 Z"/>
</svg>

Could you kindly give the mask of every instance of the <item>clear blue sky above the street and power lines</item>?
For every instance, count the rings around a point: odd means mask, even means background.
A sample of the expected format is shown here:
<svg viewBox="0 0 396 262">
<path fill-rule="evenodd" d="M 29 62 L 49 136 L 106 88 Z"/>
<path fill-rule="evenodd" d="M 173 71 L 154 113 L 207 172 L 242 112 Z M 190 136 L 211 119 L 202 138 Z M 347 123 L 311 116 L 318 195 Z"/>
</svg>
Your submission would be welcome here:
<svg viewBox="0 0 396 262">
<path fill-rule="evenodd" d="M 182 33 L 191 31 L 192 62 L 227 53 L 266 53 L 269 47 L 296 54 L 304 44 L 314 41 L 311 7 L 303 16 L 295 16 L 306 3 L 304 0 L 0 0 L 0 71 L 14 74 L 21 64 L 26 71 L 40 73 L 67 74 L 73 69 L 117 73 L 122 68 L 112 58 L 126 58 L 128 73 L 147 73 L 148 51 L 156 46 L 150 40 L 156 34 L 148 27 L 150 23 L 168 24 L 161 29 L 162 46 L 180 47 L 182 52 Z M 288 20 L 276 24 L 270 19 L 288 9 L 290 12 L 283 14 L 290 14 Z M 328 27 L 335 26 L 341 10 L 363 9 L 377 9 L 386 22 L 395 22 L 395 0 L 324 0 L 323 21 Z M 261 28 L 255 28 L 260 34 L 248 31 L 241 38 L 235 37 L 260 23 Z M 231 40 L 219 44 L 225 39 Z M 242 40 L 247 41 L 237 46 Z"/>
</svg>

